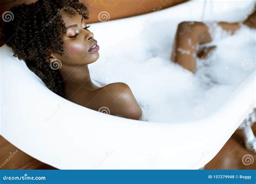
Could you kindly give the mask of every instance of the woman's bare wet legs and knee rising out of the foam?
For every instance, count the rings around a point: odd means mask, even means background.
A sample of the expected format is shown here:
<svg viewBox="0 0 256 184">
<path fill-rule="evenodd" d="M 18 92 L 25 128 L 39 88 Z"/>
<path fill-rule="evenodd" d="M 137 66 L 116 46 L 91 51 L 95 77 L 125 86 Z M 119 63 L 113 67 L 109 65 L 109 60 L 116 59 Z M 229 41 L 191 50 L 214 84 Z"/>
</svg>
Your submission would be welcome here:
<svg viewBox="0 0 256 184">
<path fill-rule="evenodd" d="M 231 34 L 240 29 L 239 22 L 218 22 L 217 24 Z M 242 24 L 255 29 L 256 12 L 252 13 Z M 199 56 L 199 58 L 204 59 L 211 55 L 215 48 L 215 46 L 212 46 L 199 50 L 198 45 L 206 44 L 210 41 L 212 41 L 212 38 L 207 25 L 201 22 L 182 22 L 177 28 L 171 60 L 194 73 L 196 72 L 196 57 Z"/>
</svg>

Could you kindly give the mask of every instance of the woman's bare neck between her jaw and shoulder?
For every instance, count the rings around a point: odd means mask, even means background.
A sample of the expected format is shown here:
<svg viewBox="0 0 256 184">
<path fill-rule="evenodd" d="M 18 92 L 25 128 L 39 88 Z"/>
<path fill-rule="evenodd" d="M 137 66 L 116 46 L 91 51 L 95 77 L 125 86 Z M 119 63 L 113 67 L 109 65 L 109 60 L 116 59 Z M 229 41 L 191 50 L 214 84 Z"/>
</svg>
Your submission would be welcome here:
<svg viewBox="0 0 256 184">
<path fill-rule="evenodd" d="M 62 66 L 59 69 L 64 82 L 64 88 L 68 90 L 95 90 L 97 87 L 92 83 L 87 65 Z"/>
</svg>

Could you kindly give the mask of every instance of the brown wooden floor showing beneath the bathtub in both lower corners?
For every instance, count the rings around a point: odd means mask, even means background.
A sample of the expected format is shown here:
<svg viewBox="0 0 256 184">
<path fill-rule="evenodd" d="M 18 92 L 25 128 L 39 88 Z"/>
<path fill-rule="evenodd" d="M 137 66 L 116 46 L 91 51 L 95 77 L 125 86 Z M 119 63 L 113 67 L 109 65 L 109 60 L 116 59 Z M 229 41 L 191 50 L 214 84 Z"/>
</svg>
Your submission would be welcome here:
<svg viewBox="0 0 256 184">
<path fill-rule="evenodd" d="M 256 135 L 256 123 L 253 126 Z M 246 151 L 237 130 L 204 169 L 256 169 L 256 154 Z M 10 158 L 12 155 L 12 158 Z M 56 169 L 25 154 L 0 136 L 0 169 Z"/>
</svg>

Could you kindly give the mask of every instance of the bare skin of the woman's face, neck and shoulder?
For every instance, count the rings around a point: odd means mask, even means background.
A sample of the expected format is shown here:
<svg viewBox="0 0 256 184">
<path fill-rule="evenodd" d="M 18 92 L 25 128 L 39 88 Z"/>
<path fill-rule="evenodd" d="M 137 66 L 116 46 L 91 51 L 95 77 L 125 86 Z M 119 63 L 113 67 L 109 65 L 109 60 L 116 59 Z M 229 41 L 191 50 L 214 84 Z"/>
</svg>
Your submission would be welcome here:
<svg viewBox="0 0 256 184">
<path fill-rule="evenodd" d="M 64 55 L 53 53 L 53 58 L 48 62 L 55 59 L 62 62 L 59 73 L 64 82 L 66 98 L 86 108 L 98 111 L 107 107 L 111 115 L 139 119 L 142 109 L 127 84 L 117 82 L 99 88 L 91 81 L 87 65 L 99 58 L 99 52 L 98 46 L 94 51 L 90 49 L 96 40 L 86 20 L 79 14 L 74 17 L 66 12 L 62 12 L 62 19 L 67 28 L 63 35 Z"/>
</svg>

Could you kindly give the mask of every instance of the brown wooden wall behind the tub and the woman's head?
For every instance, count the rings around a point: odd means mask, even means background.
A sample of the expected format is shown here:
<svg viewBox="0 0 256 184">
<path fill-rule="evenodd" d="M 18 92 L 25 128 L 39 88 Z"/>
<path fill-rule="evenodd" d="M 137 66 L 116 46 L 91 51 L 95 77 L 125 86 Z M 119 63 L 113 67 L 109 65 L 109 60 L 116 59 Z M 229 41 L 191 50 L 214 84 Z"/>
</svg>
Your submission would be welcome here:
<svg viewBox="0 0 256 184">
<path fill-rule="evenodd" d="M 33 3 L 36 0 L 0 0 L 0 15 L 10 10 L 12 6 L 25 3 Z M 186 0 L 80 0 L 89 9 L 87 23 L 95 23 L 100 20 L 114 20 L 131 17 L 162 10 L 170 6 L 185 2 Z M 3 20 L 0 20 L 0 46 L 2 46 Z"/>
</svg>

